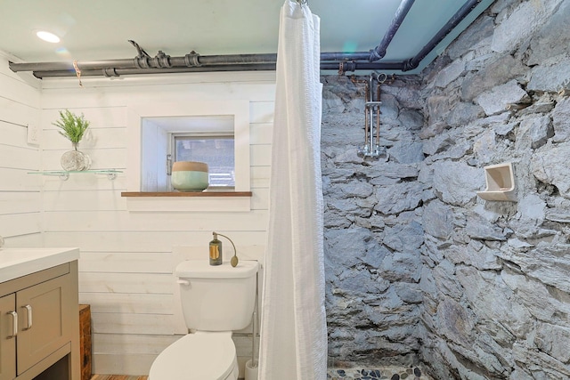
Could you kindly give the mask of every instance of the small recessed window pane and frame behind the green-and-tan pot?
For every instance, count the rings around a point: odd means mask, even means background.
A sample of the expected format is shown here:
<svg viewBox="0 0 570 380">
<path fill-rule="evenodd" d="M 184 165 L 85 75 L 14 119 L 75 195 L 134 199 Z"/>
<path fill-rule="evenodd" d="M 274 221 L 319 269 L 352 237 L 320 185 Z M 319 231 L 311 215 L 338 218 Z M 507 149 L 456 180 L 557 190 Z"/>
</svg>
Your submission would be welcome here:
<svg viewBox="0 0 570 380">
<path fill-rule="evenodd" d="M 208 164 L 209 187 L 235 186 L 233 134 L 172 133 L 172 161 L 199 161 Z"/>
</svg>

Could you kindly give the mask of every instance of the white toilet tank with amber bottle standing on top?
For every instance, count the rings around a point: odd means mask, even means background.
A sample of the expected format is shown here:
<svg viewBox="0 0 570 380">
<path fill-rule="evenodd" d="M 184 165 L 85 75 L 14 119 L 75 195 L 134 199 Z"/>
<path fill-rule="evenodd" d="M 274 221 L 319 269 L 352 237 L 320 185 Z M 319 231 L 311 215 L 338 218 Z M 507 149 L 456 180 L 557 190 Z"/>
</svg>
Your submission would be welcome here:
<svg viewBox="0 0 570 380">
<path fill-rule="evenodd" d="M 175 276 L 188 328 L 232 331 L 248 327 L 256 303 L 256 261 L 210 265 L 208 260 L 179 263 Z"/>
</svg>

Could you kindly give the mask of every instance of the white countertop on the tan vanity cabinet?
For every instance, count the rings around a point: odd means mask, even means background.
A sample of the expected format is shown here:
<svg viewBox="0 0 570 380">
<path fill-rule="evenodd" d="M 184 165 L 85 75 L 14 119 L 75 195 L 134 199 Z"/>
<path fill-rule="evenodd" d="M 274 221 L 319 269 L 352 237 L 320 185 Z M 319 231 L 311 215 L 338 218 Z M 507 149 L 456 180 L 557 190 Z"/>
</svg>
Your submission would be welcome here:
<svg viewBox="0 0 570 380">
<path fill-rule="evenodd" d="M 0 282 L 79 259 L 79 248 L 0 248 Z"/>
</svg>

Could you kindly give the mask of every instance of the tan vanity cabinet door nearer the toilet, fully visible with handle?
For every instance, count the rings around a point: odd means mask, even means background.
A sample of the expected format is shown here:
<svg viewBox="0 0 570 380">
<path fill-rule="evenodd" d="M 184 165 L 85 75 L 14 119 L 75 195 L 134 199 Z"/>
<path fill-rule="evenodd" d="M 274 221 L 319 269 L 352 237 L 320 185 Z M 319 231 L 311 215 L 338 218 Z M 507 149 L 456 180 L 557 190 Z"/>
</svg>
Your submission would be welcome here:
<svg viewBox="0 0 570 380">
<path fill-rule="evenodd" d="M 18 375 L 70 341 L 76 326 L 69 275 L 42 282 L 16 293 L 19 315 Z M 75 311 L 75 313 L 74 313 Z"/>
</svg>

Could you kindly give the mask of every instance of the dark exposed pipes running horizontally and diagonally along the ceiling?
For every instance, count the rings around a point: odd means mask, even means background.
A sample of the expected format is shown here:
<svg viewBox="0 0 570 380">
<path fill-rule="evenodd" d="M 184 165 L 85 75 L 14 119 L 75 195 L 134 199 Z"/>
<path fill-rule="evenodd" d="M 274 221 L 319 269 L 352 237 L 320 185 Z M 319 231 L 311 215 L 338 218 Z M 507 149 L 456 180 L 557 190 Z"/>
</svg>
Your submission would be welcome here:
<svg viewBox="0 0 570 380">
<path fill-rule="evenodd" d="M 338 70 L 340 73 L 357 70 L 400 70 L 405 72 L 416 69 L 419 62 L 483 1 L 468 0 L 463 4 L 460 10 L 447 21 L 444 27 L 416 56 L 400 62 L 381 62 L 379 60 L 386 54 L 387 46 L 392 42 L 392 38 L 413 4 L 412 0 L 403 0 L 398 7 L 395 18 L 388 27 L 386 35 L 377 47 L 370 52 L 321 53 L 321 69 Z M 488 1 L 485 0 L 485 3 Z M 276 53 L 199 55 L 199 53 L 192 51 L 181 57 L 171 57 L 160 51 L 153 58 L 140 48 L 137 51 L 139 54 L 134 59 L 76 61 L 75 63 L 84 77 L 118 77 L 121 75 L 203 71 L 274 70 L 277 61 Z M 10 61 L 9 67 L 13 72 L 33 71 L 34 76 L 38 78 L 75 77 L 77 75 L 72 62 L 16 63 Z"/>
</svg>

